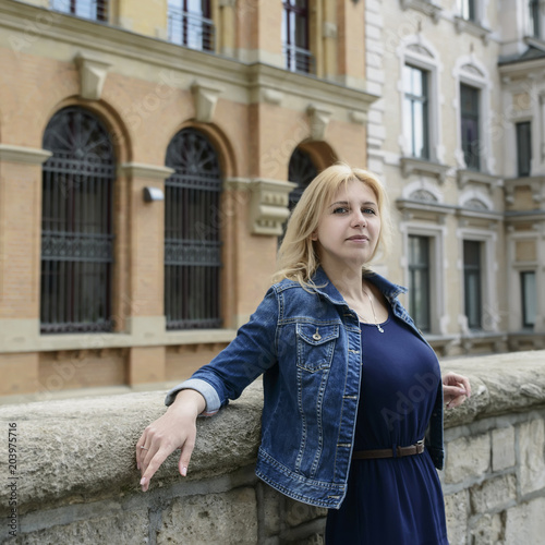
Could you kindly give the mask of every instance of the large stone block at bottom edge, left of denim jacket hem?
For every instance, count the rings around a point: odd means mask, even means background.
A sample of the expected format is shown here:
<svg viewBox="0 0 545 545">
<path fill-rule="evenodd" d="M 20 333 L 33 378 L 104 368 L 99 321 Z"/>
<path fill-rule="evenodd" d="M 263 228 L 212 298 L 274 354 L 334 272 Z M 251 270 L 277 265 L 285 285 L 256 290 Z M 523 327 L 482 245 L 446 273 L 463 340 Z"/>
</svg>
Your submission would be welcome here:
<svg viewBox="0 0 545 545">
<path fill-rule="evenodd" d="M 257 502 L 253 488 L 175 499 L 164 511 L 157 545 L 255 545 Z"/>
</svg>

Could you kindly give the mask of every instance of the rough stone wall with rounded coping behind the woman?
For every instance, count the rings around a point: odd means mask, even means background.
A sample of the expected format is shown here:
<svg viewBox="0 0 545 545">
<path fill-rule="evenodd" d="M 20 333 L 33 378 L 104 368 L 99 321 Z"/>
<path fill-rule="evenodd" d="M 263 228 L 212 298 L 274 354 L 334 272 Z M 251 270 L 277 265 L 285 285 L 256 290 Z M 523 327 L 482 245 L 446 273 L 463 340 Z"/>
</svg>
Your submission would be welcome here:
<svg viewBox="0 0 545 545">
<path fill-rule="evenodd" d="M 443 367 L 470 376 L 474 391 L 446 416 L 441 480 L 451 544 L 543 543 L 545 351 L 450 360 Z M 7 440 L 0 453 L 0 542 L 323 543 L 326 511 L 284 498 L 253 473 L 261 398 L 255 385 L 215 417 L 199 419 L 189 476 L 180 477 L 172 456 L 146 494 L 134 445 L 162 413 L 162 395 L 1 408 L 5 438 L 16 443 L 11 460 Z"/>
</svg>

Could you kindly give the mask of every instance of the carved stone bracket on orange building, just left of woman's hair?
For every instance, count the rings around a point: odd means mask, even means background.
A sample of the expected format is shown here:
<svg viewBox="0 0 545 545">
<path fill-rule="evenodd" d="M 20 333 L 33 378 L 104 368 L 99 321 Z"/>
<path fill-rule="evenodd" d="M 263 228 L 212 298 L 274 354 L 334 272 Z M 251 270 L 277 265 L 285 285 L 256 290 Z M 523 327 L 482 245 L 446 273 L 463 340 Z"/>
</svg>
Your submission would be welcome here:
<svg viewBox="0 0 545 545">
<path fill-rule="evenodd" d="M 250 182 L 250 231 L 253 234 L 282 234 L 288 219 L 289 194 L 295 183 L 278 180 L 254 179 Z"/>
</svg>

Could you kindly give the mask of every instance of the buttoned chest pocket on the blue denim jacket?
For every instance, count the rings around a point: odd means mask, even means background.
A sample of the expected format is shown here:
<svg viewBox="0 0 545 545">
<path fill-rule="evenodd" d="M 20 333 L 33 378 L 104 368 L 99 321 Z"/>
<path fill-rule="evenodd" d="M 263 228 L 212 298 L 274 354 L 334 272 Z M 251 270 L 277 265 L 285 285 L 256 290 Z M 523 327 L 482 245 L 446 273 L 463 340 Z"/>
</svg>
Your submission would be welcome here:
<svg viewBox="0 0 545 545">
<path fill-rule="evenodd" d="M 339 337 L 338 325 L 296 324 L 298 367 L 314 373 L 328 368 Z"/>
</svg>

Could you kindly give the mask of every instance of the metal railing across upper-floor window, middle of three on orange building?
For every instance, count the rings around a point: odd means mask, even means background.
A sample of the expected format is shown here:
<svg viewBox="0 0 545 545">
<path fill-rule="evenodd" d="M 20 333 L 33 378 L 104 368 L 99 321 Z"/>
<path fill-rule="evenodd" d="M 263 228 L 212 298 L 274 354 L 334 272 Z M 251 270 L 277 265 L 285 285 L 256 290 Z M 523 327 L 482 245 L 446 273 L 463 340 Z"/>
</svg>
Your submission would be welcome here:
<svg viewBox="0 0 545 545">
<path fill-rule="evenodd" d="M 169 41 L 201 51 L 214 51 L 215 27 L 210 19 L 169 5 L 168 25 Z"/>
</svg>

